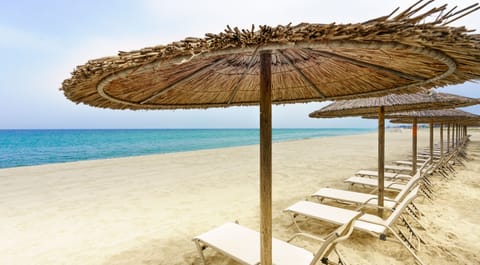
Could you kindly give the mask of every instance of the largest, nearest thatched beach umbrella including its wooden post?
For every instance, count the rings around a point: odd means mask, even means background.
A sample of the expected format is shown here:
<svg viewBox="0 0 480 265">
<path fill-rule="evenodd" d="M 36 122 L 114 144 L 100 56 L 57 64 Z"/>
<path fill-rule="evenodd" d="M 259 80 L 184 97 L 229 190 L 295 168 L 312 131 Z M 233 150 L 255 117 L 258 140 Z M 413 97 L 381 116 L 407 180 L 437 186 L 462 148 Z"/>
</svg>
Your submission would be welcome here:
<svg viewBox="0 0 480 265">
<path fill-rule="evenodd" d="M 62 90 L 113 109 L 260 104 L 261 263 L 271 264 L 271 104 L 416 92 L 480 78 L 479 40 L 446 6 L 356 24 L 230 28 L 78 66 Z M 429 21 L 432 17 L 432 21 Z"/>
</svg>

